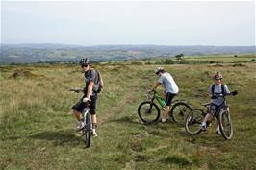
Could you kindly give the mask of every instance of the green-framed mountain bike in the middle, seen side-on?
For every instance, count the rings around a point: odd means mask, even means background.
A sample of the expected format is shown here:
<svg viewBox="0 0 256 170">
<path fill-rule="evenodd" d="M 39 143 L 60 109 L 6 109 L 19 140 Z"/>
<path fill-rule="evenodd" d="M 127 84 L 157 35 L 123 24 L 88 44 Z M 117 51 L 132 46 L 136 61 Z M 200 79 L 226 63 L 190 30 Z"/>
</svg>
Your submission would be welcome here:
<svg viewBox="0 0 256 170">
<path fill-rule="evenodd" d="M 166 99 L 158 94 L 155 90 L 152 94 L 148 94 L 148 101 L 144 101 L 138 108 L 138 114 L 141 121 L 145 124 L 154 123 L 159 120 L 160 108 L 166 110 Z M 192 110 L 186 100 L 174 100 L 171 102 L 169 117 L 178 124 L 184 124 L 186 116 Z"/>
</svg>

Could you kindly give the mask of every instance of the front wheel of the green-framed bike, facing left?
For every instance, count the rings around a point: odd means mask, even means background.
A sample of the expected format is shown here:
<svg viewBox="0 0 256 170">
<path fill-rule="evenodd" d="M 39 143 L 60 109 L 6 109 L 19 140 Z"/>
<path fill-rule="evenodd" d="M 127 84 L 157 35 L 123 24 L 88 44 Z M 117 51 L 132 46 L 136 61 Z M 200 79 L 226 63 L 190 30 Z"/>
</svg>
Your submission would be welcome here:
<svg viewBox="0 0 256 170">
<path fill-rule="evenodd" d="M 142 102 L 138 108 L 138 115 L 143 123 L 154 123 L 160 117 L 160 109 L 150 101 Z"/>
</svg>

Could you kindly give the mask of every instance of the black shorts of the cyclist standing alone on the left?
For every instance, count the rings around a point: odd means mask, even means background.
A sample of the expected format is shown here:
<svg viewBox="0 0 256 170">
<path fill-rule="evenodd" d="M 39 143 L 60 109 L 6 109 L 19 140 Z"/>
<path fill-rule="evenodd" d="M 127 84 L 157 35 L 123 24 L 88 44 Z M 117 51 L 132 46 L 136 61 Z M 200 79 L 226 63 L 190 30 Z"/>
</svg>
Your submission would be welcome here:
<svg viewBox="0 0 256 170">
<path fill-rule="evenodd" d="M 77 111 L 79 111 L 79 112 L 82 112 L 83 111 L 83 109 L 85 109 L 86 108 L 86 105 L 85 105 L 85 103 L 83 102 L 83 98 L 84 97 L 86 97 L 86 96 L 83 96 L 80 100 L 79 100 L 79 102 L 78 103 L 76 103 L 73 107 L 72 107 L 72 109 L 75 109 L 75 110 L 77 110 Z M 90 108 L 90 114 L 96 114 L 96 101 L 97 101 L 97 96 L 95 95 L 95 96 L 90 96 L 90 106 L 89 106 L 89 108 Z"/>
</svg>

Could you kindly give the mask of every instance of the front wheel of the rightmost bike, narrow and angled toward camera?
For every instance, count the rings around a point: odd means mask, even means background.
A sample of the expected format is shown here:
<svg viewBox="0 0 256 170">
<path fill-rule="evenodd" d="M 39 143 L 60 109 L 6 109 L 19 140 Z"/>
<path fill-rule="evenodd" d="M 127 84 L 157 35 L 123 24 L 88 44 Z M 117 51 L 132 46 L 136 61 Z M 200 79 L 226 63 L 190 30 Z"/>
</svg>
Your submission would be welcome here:
<svg viewBox="0 0 256 170">
<path fill-rule="evenodd" d="M 218 115 L 219 129 L 223 137 L 230 140 L 233 136 L 233 125 L 227 110 L 221 110 Z"/>
</svg>

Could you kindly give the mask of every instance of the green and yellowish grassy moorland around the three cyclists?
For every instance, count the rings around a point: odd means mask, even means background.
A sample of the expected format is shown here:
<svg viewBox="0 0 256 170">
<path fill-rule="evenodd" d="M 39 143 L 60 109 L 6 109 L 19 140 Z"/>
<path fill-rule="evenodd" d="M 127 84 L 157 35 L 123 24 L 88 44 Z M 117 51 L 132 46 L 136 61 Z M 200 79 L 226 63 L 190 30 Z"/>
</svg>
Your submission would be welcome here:
<svg viewBox="0 0 256 170">
<path fill-rule="evenodd" d="M 223 73 L 224 83 L 239 91 L 228 98 L 235 129 L 230 141 L 214 128 L 189 136 L 171 121 L 141 124 L 137 109 L 157 80 L 157 66 L 96 65 L 105 87 L 98 100 L 99 136 L 89 149 L 74 131 L 70 109 L 80 94 L 68 89 L 83 86 L 79 65 L 0 66 L 0 168 L 256 169 L 256 63 L 161 65 L 179 85 L 178 97 L 193 108 L 209 100 L 212 75 Z"/>
</svg>

